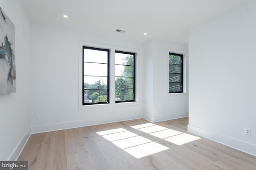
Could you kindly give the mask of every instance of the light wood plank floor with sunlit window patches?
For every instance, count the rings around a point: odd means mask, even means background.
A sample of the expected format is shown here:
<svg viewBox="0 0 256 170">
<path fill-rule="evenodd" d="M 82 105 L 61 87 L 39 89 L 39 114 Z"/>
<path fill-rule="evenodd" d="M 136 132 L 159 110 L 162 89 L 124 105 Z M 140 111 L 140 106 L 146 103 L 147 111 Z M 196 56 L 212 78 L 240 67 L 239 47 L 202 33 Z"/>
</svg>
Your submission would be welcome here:
<svg viewBox="0 0 256 170">
<path fill-rule="evenodd" d="M 27 160 L 29 170 L 256 170 L 252 155 L 202 137 L 184 143 L 198 137 L 186 131 L 187 117 L 131 127 L 145 123 L 136 119 L 33 134 L 18 160 Z"/>
</svg>

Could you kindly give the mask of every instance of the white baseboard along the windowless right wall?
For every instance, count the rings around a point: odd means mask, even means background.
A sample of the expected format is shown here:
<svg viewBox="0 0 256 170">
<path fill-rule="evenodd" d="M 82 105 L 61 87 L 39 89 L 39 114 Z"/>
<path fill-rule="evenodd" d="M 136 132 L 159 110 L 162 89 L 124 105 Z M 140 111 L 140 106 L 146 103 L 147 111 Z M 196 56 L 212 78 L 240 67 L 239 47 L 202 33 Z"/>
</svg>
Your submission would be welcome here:
<svg viewBox="0 0 256 170">
<path fill-rule="evenodd" d="M 212 141 L 221 143 L 236 150 L 240 150 L 242 152 L 256 156 L 256 145 L 254 144 L 246 143 L 244 141 L 240 141 L 228 136 L 223 136 L 217 133 L 212 133 L 210 131 L 192 125 L 188 125 L 188 132 L 194 133 L 206 139 L 210 139 Z"/>
</svg>

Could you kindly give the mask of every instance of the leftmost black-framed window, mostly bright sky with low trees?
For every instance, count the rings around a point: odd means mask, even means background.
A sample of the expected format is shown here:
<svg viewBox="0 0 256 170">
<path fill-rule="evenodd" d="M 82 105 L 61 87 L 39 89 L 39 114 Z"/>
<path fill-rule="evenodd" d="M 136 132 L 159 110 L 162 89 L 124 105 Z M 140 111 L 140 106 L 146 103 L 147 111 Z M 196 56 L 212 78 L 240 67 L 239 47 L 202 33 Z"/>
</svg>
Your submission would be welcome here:
<svg viewBox="0 0 256 170">
<path fill-rule="evenodd" d="M 109 103 L 109 49 L 83 47 L 83 105 Z"/>
</svg>

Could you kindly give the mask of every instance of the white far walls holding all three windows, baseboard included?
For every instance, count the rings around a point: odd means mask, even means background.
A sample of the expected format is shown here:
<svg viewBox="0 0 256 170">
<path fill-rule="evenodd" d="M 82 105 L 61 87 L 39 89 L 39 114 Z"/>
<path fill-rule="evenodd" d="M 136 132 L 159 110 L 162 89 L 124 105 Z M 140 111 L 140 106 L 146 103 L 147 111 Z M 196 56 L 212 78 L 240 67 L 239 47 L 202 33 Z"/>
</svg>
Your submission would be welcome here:
<svg viewBox="0 0 256 170">
<path fill-rule="evenodd" d="M 184 53 L 188 57 L 187 45 L 154 39 L 152 50 L 150 47 L 143 48 L 142 43 L 38 24 L 31 24 L 31 42 L 32 133 L 141 117 L 150 121 L 162 121 L 188 115 L 188 90 L 185 88 L 184 94 L 168 94 L 168 53 Z M 117 49 L 137 52 L 135 103 L 115 104 L 114 79 L 111 79 L 112 103 L 87 107 L 79 104 L 79 94 L 82 93 L 79 93 L 81 88 L 78 84 L 82 78 L 79 76 L 82 75 L 79 71 L 82 64 L 79 60 L 82 58 L 82 43 L 93 47 L 102 46 L 111 51 Z M 110 58 L 114 59 L 114 56 Z M 110 63 L 114 62 L 112 59 Z M 112 67 L 110 74 L 114 75 L 113 73 Z M 185 85 L 188 83 L 186 78 L 184 82 Z M 35 120 L 36 115 L 40 115 L 40 120 Z"/>
</svg>

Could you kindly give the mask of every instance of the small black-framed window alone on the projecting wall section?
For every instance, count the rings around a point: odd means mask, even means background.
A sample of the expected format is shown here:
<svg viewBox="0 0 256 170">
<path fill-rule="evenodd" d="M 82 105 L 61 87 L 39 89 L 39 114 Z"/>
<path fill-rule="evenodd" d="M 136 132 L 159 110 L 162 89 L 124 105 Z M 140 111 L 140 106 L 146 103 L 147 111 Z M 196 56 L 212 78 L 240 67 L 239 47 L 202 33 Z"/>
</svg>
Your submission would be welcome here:
<svg viewBox="0 0 256 170">
<path fill-rule="evenodd" d="M 183 55 L 169 53 L 169 93 L 183 92 Z"/>
</svg>

